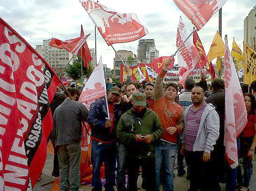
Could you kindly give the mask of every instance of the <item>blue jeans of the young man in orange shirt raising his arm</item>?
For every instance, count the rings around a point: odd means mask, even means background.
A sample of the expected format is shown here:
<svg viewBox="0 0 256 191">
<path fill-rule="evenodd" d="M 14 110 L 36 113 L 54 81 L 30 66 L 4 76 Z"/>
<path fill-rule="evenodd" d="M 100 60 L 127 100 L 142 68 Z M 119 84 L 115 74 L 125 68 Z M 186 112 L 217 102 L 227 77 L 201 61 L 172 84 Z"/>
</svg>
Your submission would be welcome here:
<svg viewBox="0 0 256 191">
<path fill-rule="evenodd" d="M 160 173 L 163 164 L 163 191 L 173 191 L 173 166 L 177 146 L 168 142 L 156 143 L 156 191 L 160 189 Z"/>
</svg>

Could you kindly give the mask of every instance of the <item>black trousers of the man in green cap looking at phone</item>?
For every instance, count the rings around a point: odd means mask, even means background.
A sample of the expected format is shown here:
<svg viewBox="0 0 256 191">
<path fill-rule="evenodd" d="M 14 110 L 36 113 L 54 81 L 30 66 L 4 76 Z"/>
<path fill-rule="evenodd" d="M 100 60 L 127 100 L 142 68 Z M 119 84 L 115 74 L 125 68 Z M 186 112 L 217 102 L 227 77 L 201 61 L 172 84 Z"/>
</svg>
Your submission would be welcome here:
<svg viewBox="0 0 256 191">
<path fill-rule="evenodd" d="M 146 175 L 146 191 L 155 191 L 156 188 L 156 170 L 155 157 L 136 158 L 127 157 L 126 164 L 129 170 L 129 191 L 137 191 L 137 179 L 140 166 Z"/>
</svg>

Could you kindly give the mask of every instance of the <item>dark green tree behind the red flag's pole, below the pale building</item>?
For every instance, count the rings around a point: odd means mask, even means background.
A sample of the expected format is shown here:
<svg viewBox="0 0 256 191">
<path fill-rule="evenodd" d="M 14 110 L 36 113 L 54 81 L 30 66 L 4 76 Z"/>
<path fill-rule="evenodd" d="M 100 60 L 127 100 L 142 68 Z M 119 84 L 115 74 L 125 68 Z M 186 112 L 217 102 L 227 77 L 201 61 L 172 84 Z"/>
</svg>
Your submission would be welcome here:
<svg viewBox="0 0 256 191">
<path fill-rule="evenodd" d="M 86 68 L 83 63 L 83 76 L 89 77 L 93 72 L 93 65 L 91 62 L 88 63 L 89 68 Z M 81 58 L 78 57 L 77 60 L 73 62 L 73 65 L 69 65 L 66 69 L 67 75 L 74 80 L 79 80 L 81 78 Z"/>
</svg>

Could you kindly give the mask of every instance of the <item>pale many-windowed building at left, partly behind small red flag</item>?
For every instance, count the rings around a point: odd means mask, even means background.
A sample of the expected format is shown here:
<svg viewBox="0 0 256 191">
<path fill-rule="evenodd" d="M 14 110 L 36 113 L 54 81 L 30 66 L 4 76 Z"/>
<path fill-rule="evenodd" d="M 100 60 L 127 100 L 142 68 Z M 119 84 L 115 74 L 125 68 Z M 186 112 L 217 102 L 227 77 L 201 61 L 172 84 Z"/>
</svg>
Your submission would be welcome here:
<svg viewBox="0 0 256 191">
<path fill-rule="evenodd" d="M 65 49 L 57 49 L 49 46 L 49 42 L 51 42 L 51 39 L 43 40 L 43 44 L 37 45 L 35 50 L 51 65 L 52 69 L 56 71 L 57 74 L 60 74 L 73 57 L 73 54 Z M 70 63 L 73 63 L 74 59 L 75 58 L 73 58 Z"/>
</svg>

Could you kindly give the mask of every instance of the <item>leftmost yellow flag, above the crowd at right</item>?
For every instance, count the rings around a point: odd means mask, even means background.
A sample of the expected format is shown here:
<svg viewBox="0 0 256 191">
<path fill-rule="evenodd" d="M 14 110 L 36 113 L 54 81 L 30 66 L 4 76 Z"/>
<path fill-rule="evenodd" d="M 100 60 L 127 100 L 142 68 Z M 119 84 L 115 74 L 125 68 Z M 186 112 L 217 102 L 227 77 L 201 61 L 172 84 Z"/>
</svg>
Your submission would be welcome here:
<svg viewBox="0 0 256 191">
<path fill-rule="evenodd" d="M 207 56 L 208 62 L 212 61 L 214 58 L 218 56 L 222 57 L 224 55 L 224 51 L 225 51 L 225 44 L 223 43 L 221 36 L 217 31 Z"/>
</svg>

